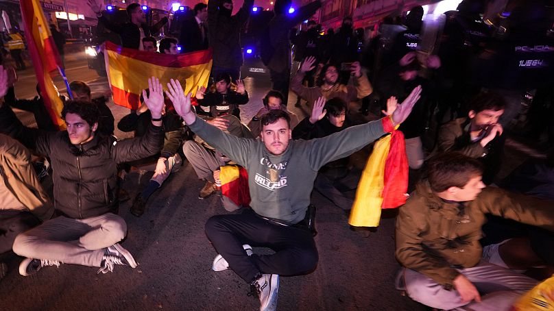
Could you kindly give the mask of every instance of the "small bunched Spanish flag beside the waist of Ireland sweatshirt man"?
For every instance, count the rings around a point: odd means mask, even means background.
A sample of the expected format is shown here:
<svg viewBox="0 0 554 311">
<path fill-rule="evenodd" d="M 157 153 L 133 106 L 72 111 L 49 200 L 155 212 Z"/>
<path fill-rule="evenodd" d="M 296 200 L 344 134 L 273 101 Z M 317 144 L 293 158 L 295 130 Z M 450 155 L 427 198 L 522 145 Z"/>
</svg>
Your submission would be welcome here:
<svg viewBox="0 0 554 311">
<path fill-rule="evenodd" d="M 238 165 L 221 166 L 219 169 L 221 195 L 231 199 L 237 206 L 249 206 L 250 188 L 246 169 Z"/>
</svg>

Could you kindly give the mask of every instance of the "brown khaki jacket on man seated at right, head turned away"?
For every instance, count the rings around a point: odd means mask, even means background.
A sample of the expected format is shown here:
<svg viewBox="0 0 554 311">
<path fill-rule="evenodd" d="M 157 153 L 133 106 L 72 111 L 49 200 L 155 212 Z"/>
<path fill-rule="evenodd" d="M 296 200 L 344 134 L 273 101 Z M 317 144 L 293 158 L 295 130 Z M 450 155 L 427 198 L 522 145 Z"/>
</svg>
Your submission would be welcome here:
<svg viewBox="0 0 554 311">
<path fill-rule="evenodd" d="M 554 202 L 487 187 L 473 201 L 446 201 L 420 182 L 396 219 L 396 259 L 435 282 L 450 287 L 459 272 L 475 266 L 485 214 L 554 231 Z"/>
</svg>

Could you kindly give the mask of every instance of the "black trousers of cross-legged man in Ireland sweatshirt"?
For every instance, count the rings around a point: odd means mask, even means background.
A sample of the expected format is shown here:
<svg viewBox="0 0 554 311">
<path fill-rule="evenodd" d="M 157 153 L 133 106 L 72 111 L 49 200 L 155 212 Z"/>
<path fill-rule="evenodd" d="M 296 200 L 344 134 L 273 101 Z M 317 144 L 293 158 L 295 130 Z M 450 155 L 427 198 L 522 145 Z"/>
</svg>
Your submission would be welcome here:
<svg viewBox="0 0 554 311">
<path fill-rule="evenodd" d="M 300 275 L 317 266 L 317 249 L 309 229 L 277 225 L 250 208 L 241 214 L 211 217 L 206 223 L 206 236 L 230 269 L 248 283 L 259 273 Z M 275 253 L 248 256 L 244 244 L 269 247 Z"/>
</svg>

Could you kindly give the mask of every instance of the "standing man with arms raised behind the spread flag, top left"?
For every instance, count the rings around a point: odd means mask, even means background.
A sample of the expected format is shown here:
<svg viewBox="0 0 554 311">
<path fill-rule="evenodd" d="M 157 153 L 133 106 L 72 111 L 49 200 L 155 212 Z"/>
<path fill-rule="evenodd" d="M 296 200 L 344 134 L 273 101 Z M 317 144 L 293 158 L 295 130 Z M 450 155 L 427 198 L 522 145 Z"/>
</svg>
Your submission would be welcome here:
<svg viewBox="0 0 554 311">
<path fill-rule="evenodd" d="M 98 23 L 103 23 L 111 32 L 115 32 L 121 36 L 121 45 L 129 49 L 143 50 L 141 44 L 142 38 L 152 36 L 160 32 L 160 29 L 167 23 L 168 18 L 162 18 L 156 25 L 148 26 L 146 23 L 146 14 L 139 3 L 131 3 L 127 5 L 127 14 L 129 22 L 127 23 L 112 23 L 102 14 L 102 7 L 97 0 L 88 0 L 88 6 L 96 13 Z"/>
</svg>

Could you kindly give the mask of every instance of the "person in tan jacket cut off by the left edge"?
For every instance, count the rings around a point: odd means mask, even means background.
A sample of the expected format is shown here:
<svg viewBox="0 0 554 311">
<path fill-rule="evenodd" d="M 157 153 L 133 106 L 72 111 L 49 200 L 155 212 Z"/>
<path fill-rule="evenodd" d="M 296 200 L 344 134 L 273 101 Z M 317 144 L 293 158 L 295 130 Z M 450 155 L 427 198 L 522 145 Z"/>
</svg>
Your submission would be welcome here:
<svg viewBox="0 0 554 311">
<path fill-rule="evenodd" d="M 54 209 L 33 166 L 31 153 L 0 134 L 0 254 L 12 250 L 15 237 L 51 219 Z M 0 262 L 0 279 L 7 267 Z"/>
</svg>

